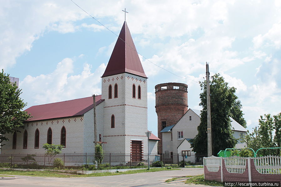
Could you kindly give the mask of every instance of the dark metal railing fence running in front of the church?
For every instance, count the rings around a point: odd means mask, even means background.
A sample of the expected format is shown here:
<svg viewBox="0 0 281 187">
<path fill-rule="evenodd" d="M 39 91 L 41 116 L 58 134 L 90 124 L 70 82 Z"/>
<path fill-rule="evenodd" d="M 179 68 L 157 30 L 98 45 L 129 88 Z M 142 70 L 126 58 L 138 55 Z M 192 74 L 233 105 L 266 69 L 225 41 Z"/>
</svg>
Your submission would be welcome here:
<svg viewBox="0 0 281 187">
<path fill-rule="evenodd" d="M 99 161 L 97 161 L 99 160 Z M 159 167 L 156 161 L 165 165 L 198 165 L 203 163 L 203 156 L 191 155 L 149 155 L 151 167 Z M 183 162 L 184 160 L 184 162 Z M 62 153 L 55 156 L 46 154 L 0 154 L 0 167 L 55 169 L 55 170 L 109 170 L 148 167 L 148 155 L 125 153 Z"/>
</svg>

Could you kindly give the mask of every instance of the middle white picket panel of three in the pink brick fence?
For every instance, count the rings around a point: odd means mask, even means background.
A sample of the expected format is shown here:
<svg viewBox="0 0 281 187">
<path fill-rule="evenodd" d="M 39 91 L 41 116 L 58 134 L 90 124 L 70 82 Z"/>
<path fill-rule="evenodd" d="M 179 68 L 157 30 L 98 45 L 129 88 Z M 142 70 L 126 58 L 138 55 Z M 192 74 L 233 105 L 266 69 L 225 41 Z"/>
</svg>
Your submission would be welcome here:
<svg viewBox="0 0 281 187">
<path fill-rule="evenodd" d="M 244 173 L 246 170 L 247 158 L 245 157 L 226 157 L 223 158 L 225 168 L 229 173 Z"/>
</svg>

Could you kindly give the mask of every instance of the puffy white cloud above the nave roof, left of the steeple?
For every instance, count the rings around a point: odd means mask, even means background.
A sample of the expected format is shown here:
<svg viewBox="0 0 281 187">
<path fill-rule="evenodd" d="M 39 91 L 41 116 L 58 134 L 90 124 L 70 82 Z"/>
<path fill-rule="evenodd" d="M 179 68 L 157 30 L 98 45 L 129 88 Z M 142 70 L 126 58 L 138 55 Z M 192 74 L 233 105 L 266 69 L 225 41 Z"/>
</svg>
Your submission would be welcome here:
<svg viewBox="0 0 281 187">
<path fill-rule="evenodd" d="M 85 64 L 80 74 L 70 75 L 73 73 L 73 60 L 65 58 L 50 74 L 26 76 L 20 82 L 20 88 L 23 89 L 23 98 L 29 98 L 29 106 L 101 94 L 100 76 L 104 70 L 105 65 L 101 64 L 92 73 L 91 65 Z"/>
</svg>

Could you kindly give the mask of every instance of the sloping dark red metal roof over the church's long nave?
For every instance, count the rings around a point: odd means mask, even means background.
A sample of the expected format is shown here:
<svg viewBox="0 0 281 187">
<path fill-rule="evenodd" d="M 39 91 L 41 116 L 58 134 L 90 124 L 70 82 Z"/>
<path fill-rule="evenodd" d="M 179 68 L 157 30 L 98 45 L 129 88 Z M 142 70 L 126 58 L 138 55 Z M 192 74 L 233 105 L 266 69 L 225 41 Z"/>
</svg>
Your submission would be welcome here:
<svg viewBox="0 0 281 187">
<path fill-rule="evenodd" d="M 96 105 L 103 102 L 102 95 L 96 96 Z M 73 99 L 44 105 L 31 106 L 25 111 L 31 114 L 26 121 L 47 120 L 53 118 L 80 116 L 93 108 L 93 97 Z"/>
</svg>

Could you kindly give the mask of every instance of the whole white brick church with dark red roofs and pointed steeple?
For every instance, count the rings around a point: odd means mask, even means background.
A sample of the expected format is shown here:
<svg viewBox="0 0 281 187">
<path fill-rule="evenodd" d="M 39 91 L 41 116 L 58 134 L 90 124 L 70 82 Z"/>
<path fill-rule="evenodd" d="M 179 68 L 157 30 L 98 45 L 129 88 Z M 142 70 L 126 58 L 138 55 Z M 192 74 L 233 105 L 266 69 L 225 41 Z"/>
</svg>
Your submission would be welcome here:
<svg viewBox="0 0 281 187">
<path fill-rule="evenodd" d="M 97 140 L 104 142 L 104 151 L 147 154 L 147 76 L 126 22 L 102 76 L 102 95 L 95 100 Z M 25 111 L 33 117 L 21 132 L 7 135 L 1 154 L 44 153 L 45 143 L 64 145 L 63 153 L 94 152 L 92 96 Z M 151 134 L 149 154 L 157 154 L 158 140 Z"/>
</svg>

